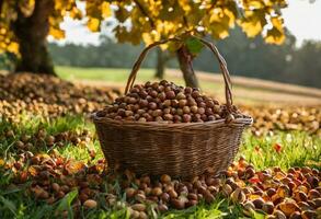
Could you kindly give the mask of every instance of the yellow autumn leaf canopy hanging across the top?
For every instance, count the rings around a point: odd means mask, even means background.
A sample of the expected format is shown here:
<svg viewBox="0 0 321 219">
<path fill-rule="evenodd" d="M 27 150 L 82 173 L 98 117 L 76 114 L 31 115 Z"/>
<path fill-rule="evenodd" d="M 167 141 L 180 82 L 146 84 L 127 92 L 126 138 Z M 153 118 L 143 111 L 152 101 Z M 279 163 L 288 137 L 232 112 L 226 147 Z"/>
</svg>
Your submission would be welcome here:
<svg viewBox="0 0 321 219">
<path fill-rule="evenodd" d="M 19 14 L 31 16 L 39 0 L 3 1 L 0 11 L 0 49 L 18 51 L 11 23 Z M 161 38 L 210 34 L 220 39 L 236 24 L 249 37 L 259 34 L 266 43 L 282 44 L 285 39 L 280 9 L 285 0 L 53 0 L 49 35 L 64 38 L 60 23 L 65 16 L 87 18 L 87 26 L 99 32 L 103 20 L 114 16 L 114 33 L 119 43 L 151 44 Z M 85 3 L 84 11 L 82 7 Z M 20 13 L 18 13 L 20 11 Z M 267 26 L 272 26 L 267 28 Z"/>
</svg>

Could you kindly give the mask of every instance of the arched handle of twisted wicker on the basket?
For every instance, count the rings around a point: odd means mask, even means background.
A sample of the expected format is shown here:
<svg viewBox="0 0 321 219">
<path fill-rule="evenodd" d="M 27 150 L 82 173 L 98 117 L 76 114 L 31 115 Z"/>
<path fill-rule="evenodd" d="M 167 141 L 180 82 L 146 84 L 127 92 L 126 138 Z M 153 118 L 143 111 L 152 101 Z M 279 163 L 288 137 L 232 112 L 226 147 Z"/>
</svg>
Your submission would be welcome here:
<svg viewBox="0 0 321 219">
<path fill-rule="evenodd" d="M 194 36 L 196 37 L 196 36 Z M 216 58 L 218 59 L 219 62 L 219 67 L 220 67 L 220 71 L 223 76 L 223 81 L 225 81 L 225 94 L 226 94 L 226 105 L 227 105 L 227 110 L 229 112 L 231 112 L 231 107 L 233 104 L 233 99 L 232 99 L 232 92 L 231 92 L 231 79 L 230 79 L 230 74 L 229 74 L 229 70 L 227 68 L 227 62 L 223 59 L 223 57 L 220 55 L 220 53 L 218 51 L 217 47 L 210 43 L 207 42 L 203 38 L 196 37 L 203 45 L 207 46 L 209 48 L 209 50 L 211 50 L 214 53 L 214 55 L 216 56 Z M 146 55 L 154 47 L 165 44 L 168 42 L 181 42 L 180 38 L 169 38 L 169 39 L 163 39 L 163 41 L 159 41 L 156 43 L 150 44 L 149 46 L 147 46 L 141 54 L 139 55 L 138 59 L 135 61 L 131 72 L 128 77 L 127 80 L 127 84 L 126 84 L 126 89 L 125 89 L 125 94 L 128 93 L 128 91 L 133 88 L 135 80 L 136 80 L 136 76 L 137 72 L 141 66 L 141 62 L 144 61 Z"/>
</svg>

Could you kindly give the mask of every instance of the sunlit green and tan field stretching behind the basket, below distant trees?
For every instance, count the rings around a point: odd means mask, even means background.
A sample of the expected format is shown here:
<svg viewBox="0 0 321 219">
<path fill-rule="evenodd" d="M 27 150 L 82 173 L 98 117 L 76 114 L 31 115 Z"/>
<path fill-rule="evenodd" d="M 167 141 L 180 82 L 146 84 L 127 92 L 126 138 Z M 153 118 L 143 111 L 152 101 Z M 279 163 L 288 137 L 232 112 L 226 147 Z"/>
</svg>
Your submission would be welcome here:
<svg viewBox="0 0 321 219">
<path fill-rule="evenodd" d="M 84 84 L 106 85 L 124 89 L 130 69 L 112 68 L 76 68 L 56 67 L 58 74 L 67 80 Z M 153 81 L 153 69 L 141 69 L 137 82 Z M 218 73 L 209 74 L 197 71 L 202 89 L 220 101 L 223 101 L 222 77 Z M 168 69 L 165 79 L 184 84 L 181 72 Z M 319 105 L 321 104 L 321 90 L 299 85 L 291 85 L 274 81 L 232 77 L 233 93 L 238 104 L 273 104 L 273 105 Z"/>
</svg>

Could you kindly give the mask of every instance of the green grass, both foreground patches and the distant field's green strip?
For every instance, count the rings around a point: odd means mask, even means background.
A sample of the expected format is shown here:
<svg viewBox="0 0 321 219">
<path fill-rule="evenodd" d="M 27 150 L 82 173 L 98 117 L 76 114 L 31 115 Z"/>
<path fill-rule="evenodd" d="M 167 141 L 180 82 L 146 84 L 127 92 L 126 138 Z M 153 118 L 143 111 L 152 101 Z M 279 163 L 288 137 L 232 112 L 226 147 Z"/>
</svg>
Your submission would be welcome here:
<svg viewBox="0 0 321 219">
<path fill-rule="evenodd" d="M 100 68 L 71 68 L 57 67 L 58 74 L 67 80 L 99 80 L 110 83 L 125 84 L 129 74 L 128 69 L 100 69 Z M 151 69 L 141 69 L 139 71 L 138 81 L 152 81 L 153 71 Z M 168 78 L 175 83 L 183 84 L 183 80 Z M 200 82 L 206 91 L 222 93 L 222 84 Z M 238 87 L 236 88 L 238 89 Z M 244 89 L 244 88 L 242 88 Z M 247 100 L 247 103 L 250 100 Z M 82 132 L 84 129 L 91 132 L 91 141 L 84 146 L 74 146 L 67 141 L 64 147 L 48 147 L 46 142 L 30 149 L 33 153 L 58 153 L 68 159 L 95 163 L 103 158 L 100 149 L 99 140 L 95 136 L 94 126 L 90 119 L 82 115 L 67 115 L 58 118 L 44 118 L 33 116 L 26 113 L 18 115 L 19 124 L 1 120 L 0 116 L 0 161 L 4 163 L 19 159 L 20 150 L 16 148 L 16 141 L 21 135 L 34 135 L 39 128 L 44 128 L 49 135 L 56 135 L 62 131 Z M 14 136 L 5 137 L 8 130 L 14 130 Z M 280 151 L 275 150 L 275 145 L 280 146 Z M 91 159 L 89 150 L 96 151 L 94 160 Z M 321 169 L 321 139 L 318 136 L 311 136 L 305 131 L 276 131 L 274 135 L 265 135 L 262 137 L 253 136 L 249 130 L 243 135 L 243 141 L 237 155 L 243 155 L 253 163 L 256 170 L 264 170 L 271 166 L 280 166 L 286 170 L 290 166 L 309 165 L 311 168 Z M 1 162 L 0 162 L 1 163 Z M 79 215 L 74 216 L 70 203 L 77 197 L 77 193 L 70 192 L 65 198 L 54 205 L 47 205 L 45 201 L 35 199 L 28 187 L 32 182 L 23 184 L 13 184 L 14 173 L 4 170 L 0 164 L 0 218 L 58 218 L 57 211 L 66 211 L 71 218 L 129 218 L 129 212 L 124 207 L 110 208 L 105 206 L 104 197 L 98 196 L 99 207 L 93 210 L 81 208 Z M 104 178 L 103 185 L 106 186 L 107 176 Z M 117 186 L 117 185 L 114 185 Z M 119 198 L 124 194 L 119 194 Z M 185 210 L 170 210 L 160 218 L 242 218 L 242 209 L 239 205 L 231 205 L 230 200 L 223 197 L 217 197 L 216 200 L 207 205 L 199 205 Z M 257 215 L 257 217 L 262 216 Z"/>
</svg>

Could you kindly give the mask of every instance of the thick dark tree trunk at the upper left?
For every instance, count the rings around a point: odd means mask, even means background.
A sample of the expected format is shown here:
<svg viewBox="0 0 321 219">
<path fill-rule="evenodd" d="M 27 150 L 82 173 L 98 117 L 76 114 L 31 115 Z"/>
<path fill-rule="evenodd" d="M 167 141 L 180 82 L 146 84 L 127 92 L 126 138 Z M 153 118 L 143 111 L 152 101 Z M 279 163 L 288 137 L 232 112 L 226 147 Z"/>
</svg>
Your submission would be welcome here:
<svg viewBox="0 0 321 219">
<path fill-rule="evenodd" d="M 34 12 L 28 18 L 18 8 L 13 31 L 20 45 L 21 59 L 15 71 L 56 76 L 46 41 L 49 32 L 48 19 L 54 7 L 54 0 L 36 0 Z"/>
</svg>

